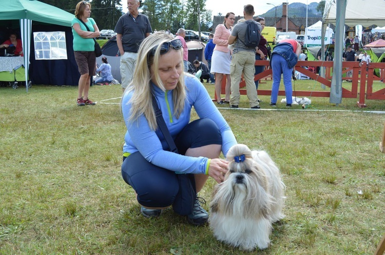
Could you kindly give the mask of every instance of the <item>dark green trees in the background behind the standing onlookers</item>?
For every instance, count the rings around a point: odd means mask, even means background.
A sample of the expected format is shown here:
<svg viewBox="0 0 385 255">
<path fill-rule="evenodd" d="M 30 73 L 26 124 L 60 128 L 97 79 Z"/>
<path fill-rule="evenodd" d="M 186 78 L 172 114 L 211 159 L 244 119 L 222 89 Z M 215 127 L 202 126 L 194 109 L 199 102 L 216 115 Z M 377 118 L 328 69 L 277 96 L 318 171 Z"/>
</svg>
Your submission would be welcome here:
<svg viewBox="0 0 385 255">
<path fill-rule="evenodd" d="M 79 0 L 39 0 L 40 2 L 55 6 L 62 10 L 75 13 Z M 123 0 L 125 1 L 125 0 Z M 114 29 L 122 15 L 120 0 L 92 0 L 91 17 L 95 20 L 100 30 Z M 199 3 L 199 8 L 198 8 Z M 199 22 L 201 31 L 208 31 L 212 22 L 211 11 L 206 10 L 206 0 L 146 0 L 140 1 L 140 9 L 148 16 L 152 30 L 167 30 L 177 32 L 179 28 L 198 31 Z M 198 10 L 200 16 L 198 18 Z M 123 10 L 128 12 L 128 10 Z"/>
</svg>

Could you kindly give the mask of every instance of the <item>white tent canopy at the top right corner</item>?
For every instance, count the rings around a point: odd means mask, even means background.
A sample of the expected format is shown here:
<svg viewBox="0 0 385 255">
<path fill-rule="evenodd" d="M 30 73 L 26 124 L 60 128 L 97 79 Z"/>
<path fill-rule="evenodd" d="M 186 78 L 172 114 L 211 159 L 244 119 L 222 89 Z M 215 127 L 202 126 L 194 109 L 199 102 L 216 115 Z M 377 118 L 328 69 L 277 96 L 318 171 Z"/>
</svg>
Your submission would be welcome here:
<svg viewBox="0 0 385 255">
<path fill-rule="evenodd" d="M 323 22 L 325 24 L 338 22 L 340 15 L 337 15 L 337 0 L 326 0 L 323 12 Z M 369 27 L 372 25 L 385 26 L 385 1 L 384 0 L 349 0 L 347 1 L 345 25 L 354 27 L 362 25 Z"/>
</svg>

